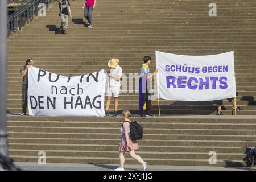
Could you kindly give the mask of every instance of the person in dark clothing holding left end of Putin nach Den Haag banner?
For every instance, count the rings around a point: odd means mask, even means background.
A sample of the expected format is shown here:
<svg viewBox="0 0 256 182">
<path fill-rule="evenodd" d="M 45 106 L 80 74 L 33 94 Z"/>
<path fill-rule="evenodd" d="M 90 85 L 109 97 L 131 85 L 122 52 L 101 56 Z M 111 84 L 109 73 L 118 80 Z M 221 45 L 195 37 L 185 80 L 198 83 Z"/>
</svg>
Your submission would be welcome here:
<svg viewBox="0 0 256 182">
<path fill-rule="evenodd" d="M 20 76 L 22 77 L 22 114 L 27 114 L 27 88 L 28 88 L 28 78 L 27 72 L 30 67 L 34 65 L 34 59 L 28 58 L 25 65 L 20 68 Z"/>
</svg>

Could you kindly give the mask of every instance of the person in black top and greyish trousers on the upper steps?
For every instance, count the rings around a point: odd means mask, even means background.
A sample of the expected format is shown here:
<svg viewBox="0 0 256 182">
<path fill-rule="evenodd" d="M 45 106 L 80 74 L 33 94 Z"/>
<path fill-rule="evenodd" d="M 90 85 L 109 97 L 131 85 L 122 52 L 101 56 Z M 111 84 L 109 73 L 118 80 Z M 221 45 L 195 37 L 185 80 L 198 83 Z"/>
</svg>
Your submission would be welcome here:
<svg viewBox="0 0 256 182">
<path fill-rule="evenodd" d="M 59 11 L 59 16 L 61 18 L 60 31 L 63 32 L 63 34 L 66 34 L 68 29 L 68 18 L 72 18 L 69 1 L 61 0 L 59 2 L 58 11 Z"/>
</svg>

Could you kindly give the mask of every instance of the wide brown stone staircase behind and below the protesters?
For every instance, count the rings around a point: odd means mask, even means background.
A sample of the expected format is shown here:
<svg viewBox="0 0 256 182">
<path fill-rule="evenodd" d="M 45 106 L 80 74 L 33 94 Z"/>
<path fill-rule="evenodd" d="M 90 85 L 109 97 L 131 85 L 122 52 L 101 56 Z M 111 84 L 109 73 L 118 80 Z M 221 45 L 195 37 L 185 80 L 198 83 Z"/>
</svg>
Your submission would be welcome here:
<svg viewBox="0 0 256 182">
<path fill-rule="evenodd" d="M 223 117 L 214 116 L 211 101 L 160 100 L 162 114 L 181 115 L 142 120 L 139 155 L 148 164 L 209 166 L 209 151 L 217 152 L 218 166 L 242 166 L 247 147 L 255 145 L 256 121 L 256 3 L 252 0 L 216 1 L 217 17 L 209 17 L 208 0 L 104 0 L 93 11 L 93 28 L 83 23 L 83 1 L 70 1 L 73 18 L 68 34 L 59 34 L 57 3 L 46 17 L 35 19 L 9 41 L 7 110 L 22 110 L 19 68 L 27 57 L 35 66 L 65 76 L 107 69 L 113 57 L 123 73 L 139 73 L 143 56 L 155 50 L 183 55 L 211 55 L 234 51 L 237 111 L 224 100 Z M 127 82 L 129 84 L 134 84 Z M 138 84 L 134 84 L 137 88 Z M 158 113 L 153 101 L 152 113 Z M 113 110 L 112 106 L 110 107 Z M 119 96 L 123 109 L 138 114 L 138 94 Z M 186 116 L 189 114 L 189 116 Z M 197 115 L 205 115 L 200 118 Z M 247 116 L 246 116 L 247 115 Z M 248 119 L 245 119 L 248 118 Z M 46 151 L 47 162 L 118 164 L 121 118 L 17 117 L 8 118 L 10 155 L 15 161 L 37 162 Z M 127 163 L 136 163 L 127 159 Z"/>
</svg>

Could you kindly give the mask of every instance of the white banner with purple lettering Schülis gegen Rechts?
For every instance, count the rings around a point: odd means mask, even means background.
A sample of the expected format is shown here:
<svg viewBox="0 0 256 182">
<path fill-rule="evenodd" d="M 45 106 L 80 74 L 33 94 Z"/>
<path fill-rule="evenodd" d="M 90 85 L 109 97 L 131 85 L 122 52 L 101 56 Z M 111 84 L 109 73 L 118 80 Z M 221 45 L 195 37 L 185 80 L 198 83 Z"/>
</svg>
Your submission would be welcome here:
<svg viewBox="0 0 256 182">
<path fill-rule="evenodd" d="M 184 56 L 156 51 L 158 98 L 213 101 L 236 97 L 234 52 Z"/>
</svg>

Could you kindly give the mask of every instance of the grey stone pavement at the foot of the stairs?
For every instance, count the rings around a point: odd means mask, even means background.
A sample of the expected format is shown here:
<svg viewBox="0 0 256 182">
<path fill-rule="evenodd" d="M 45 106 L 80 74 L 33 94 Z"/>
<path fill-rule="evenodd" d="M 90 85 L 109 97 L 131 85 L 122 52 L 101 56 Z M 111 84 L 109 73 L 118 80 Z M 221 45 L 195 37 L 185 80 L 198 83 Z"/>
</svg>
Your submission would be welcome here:
<svg viewBox="0 0 256 182">
<path fill-rule="evenodd" d="M 67 163 L 38 163 L 16 162 L 23 171 L 113 171 L 117 165 L 109 164 L 67 164 Z M 125 165 L 127 171 L 140 171 L 141 165 Z M 208 167 L 208 166 L 148 166 L 148 171 L 256 171 L 256 167 Z"/>
</svg>

